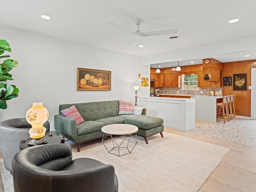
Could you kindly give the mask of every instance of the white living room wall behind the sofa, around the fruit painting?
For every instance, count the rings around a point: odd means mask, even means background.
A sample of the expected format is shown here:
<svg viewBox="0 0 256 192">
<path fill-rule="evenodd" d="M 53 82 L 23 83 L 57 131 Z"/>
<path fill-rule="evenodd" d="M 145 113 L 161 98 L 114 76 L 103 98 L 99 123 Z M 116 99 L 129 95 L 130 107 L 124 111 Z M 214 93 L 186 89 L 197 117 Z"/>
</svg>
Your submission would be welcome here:
<svg viewBox="0 0 256 192">
<path fill-rule="evenodd" d="M 150 66 L 141 66 L 137 56 L 5 26 L 0 26 L 0 39 L 9 42 L 9 54 L 19 62 L 10 72 L 14 80 L 9 83 L 20 89 L 17 98 L 7 101 L 8 108 L 0 110 L 0 121 L 25 117 L 32 102 L 43 102 L 51 126 L 59 104 L 118 99 L 135 102 L 133 86 L 140 85 L 138 73 L 150 77 Z M 78 67 L 111 71 L 111 91 L 77 91 Z M 138 90 L 138 100 L 149 95 L 150 87 Z"/>
</svg>

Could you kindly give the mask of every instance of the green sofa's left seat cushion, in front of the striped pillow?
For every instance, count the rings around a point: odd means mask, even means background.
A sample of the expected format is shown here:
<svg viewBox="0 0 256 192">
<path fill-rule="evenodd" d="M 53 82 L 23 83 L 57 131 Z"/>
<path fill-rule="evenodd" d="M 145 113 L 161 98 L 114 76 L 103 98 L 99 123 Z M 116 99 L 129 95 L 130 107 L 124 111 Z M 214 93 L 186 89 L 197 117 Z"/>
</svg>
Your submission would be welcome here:
<svg viewBox="0 0 256 192">
<path fill-rule="evenodd" d="M 96 121 L 85 121 L 76 126 L 78 136 L 101 130 L 105 123 Z"/>
</svg>

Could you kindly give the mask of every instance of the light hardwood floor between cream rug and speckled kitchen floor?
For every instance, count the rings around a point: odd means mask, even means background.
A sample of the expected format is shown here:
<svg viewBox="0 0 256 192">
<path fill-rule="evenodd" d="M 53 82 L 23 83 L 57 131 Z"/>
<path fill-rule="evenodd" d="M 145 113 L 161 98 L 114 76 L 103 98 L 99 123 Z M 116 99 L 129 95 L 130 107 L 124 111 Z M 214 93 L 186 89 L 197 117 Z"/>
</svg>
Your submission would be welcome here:
<svg viewBox="0 0 256 192">
<path fill-rule="evenodd" d="M 256 147 L 190 132 L 164 131 L 230 148 L 198 192 L 256 192 Z"/>
</svg>

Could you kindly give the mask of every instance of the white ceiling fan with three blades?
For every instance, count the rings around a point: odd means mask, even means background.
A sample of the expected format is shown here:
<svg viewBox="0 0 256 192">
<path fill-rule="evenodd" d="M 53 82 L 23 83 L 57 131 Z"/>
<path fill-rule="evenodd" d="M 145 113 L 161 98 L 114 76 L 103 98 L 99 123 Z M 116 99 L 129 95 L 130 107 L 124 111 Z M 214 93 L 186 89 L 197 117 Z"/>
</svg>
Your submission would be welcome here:
<svg viewBox="0 0 256 192">
<path fill-rule="evenodd" d="M 142 33 L 140 30 L 139 30 L 139 26 L 140 26 L 140 23 L 142 22 L 141 19 L 136 19 L 135 20 L 135 24 L 137 25 L 137 30 L 136 31 L 132 31 L 130 29 L 127 29 L 123 26 L 120 26 L 114 22 L 107 22 L 107 24 L 111 25 L 111 26 L 114 26 L 116 28 L 121 28 L 121 29 L 125 29 L 125 30 L 129 30 L 132 32 L 132 38 L 130 39 L 130 41 L 128 41 L 128 43 L 126 43 L 126 45 L 131 45 L 134 41 L 136 41 L 137 39 L 141 39 L 141 38 L 144 38 L 144 37 L 147 37 L 147 36 L 155 36 L 155 35 L 168 35 L 168 34 L 175 34 L 178 32 L 177 29 L 171 29 L 171 30 L 162 30 L 162 31 L 151 31 L 151 32 L 145 32 L 145 33 Z"/>
</svg>

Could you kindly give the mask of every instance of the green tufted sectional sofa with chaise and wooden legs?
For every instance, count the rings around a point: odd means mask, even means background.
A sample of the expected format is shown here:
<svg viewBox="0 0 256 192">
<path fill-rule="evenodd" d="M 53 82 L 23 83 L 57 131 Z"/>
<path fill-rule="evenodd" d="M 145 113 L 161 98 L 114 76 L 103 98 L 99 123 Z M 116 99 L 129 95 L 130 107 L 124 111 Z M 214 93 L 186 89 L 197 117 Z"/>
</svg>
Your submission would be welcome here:
<svg viewBox="0 0 256 192">
<path fill-rule="evenodd" d="M 76 125 L 73 118 L 65 117 L 61 111 L 76 106 L 78 112 L 84 118 L 84 122 Z M 55 130 L 65 138 L 77 144 L 80 151 L 80 144 L 102 138 L 101 128 L 108 124 L 132 124 L 138 127 L 137 135 L 144 137 L 148 144 L 147 137 L 164 131 L 163 119 L 146 116 L 146 108 L 142 115 L 118 115 L 119 100 L 87 102 L 76 104 L 61 104 L 59 114 L 54 116 Z"/>
</svg>

